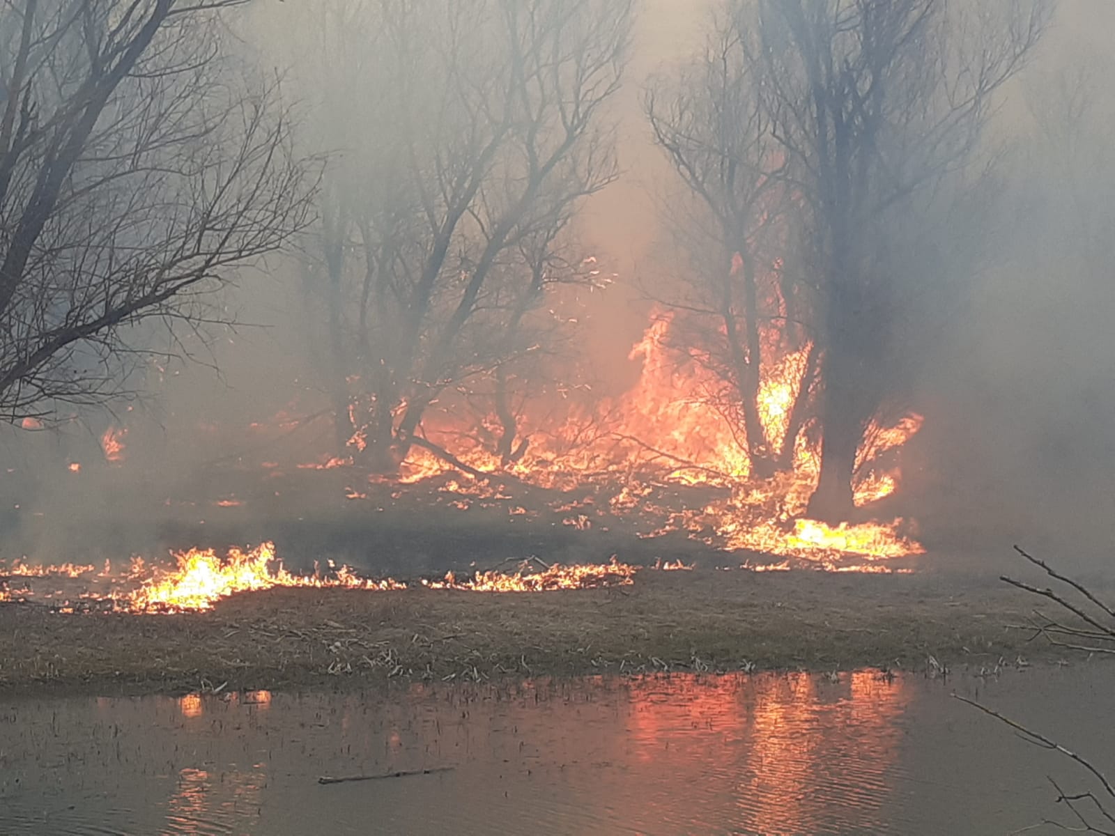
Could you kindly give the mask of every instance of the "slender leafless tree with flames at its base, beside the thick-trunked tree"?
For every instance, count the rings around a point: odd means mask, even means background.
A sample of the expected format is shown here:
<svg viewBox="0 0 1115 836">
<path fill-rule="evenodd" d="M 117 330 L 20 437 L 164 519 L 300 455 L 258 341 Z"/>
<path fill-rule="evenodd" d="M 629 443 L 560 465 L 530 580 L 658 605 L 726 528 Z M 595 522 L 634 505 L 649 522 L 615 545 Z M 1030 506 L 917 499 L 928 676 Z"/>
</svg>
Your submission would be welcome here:
<svg viewBox="0 0 1115 836">
<path fill-rule="evenodd" d="M 679 341 L 701 349 L 699 357 L 725 381 L 720 411 L 743 430 L 753 473 L 765 477 L 792 463 L 816 350 L 808 352 L 784 437 L 770 438 L 759 400 L 763 371 L 772 354 L 806 341 L 786 262 L 795 195 L 757 96 L 759 68 L 734 12 L 726 6 L 715 14 L 704 55 L 657 79 L 644 108 L 655 142 L 696 197 L 669 202 L 691 264 L 679 276 L 686 292 L 663 301 L 681 314 Z"/>
</svg>

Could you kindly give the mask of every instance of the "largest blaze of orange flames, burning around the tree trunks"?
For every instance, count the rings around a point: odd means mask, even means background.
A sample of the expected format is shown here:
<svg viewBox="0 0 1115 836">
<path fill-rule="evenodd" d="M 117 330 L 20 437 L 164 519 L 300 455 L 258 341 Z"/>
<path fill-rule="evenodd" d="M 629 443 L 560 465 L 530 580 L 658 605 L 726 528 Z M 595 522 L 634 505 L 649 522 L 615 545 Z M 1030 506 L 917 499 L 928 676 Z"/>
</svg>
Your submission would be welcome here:
<svg viewBox="0 0 1115 836">
<path fill-rule="evenodd" d="M 656 523 L 639 532 L 655 537 L 686 532 L 690 537 L 729 550 L 752 550 L 836 566 L 842 558 L 889 560 L 921 554 L 922 547 L 908 533 L 902 519 L 830 526 L 805 517 L 808 498 L 820 477 L 820 444 L 805 421 L 791 427 L 795 404 L 813 362 L 808 342 L 786 350 L 777 331 L 764 333 L 764 375 L 759 381 L 758 418 L 763 443 L 787 463 L 768 478 L 756 478 L 746 439 L 725 418 L 731 391 L 710 370 L 708 357 L 681 350 L 673 338 L 675 317 L 657 314 L 631 349 L 640 363 L 636 385 L 617 398 L 604 398 L 591 408 L 573 405 L 564 424 L 532 422 L 530 414 L 520 431 L 530 438 L 524 455 L 504 464 L 478 440 L 497 427 L 482 418 L 479 428 L 462 425 L 463 410 L 450 406 L 433 412 L 424 424 L 428 435 L 445 438 L 446 446 L 469 467 L 494 475 L 507 473 L 526 484 L 563 492 L 593 490 L 620 485 L 608 499 L 608 511 L 623 517 L 658 513 Z M 449 396 L 446 396 L 449 399 Z M 727 406 L 726 406 L 727 405 Z M 856 459 L 854 502 L 863 507 L 894 493 L 901 473 L 891 451 L 905 444 L 922 425 L 909 414 L 896 424 L 872 421 Z M 792 450 L 783 448 L 793 441 Z M 400 482 L 420 483 L 445 478 L 455 469 L 425 449 L 415 449 L 401 466 Z M 656 506 L 655 486 L 716 488 L 721 498 L 697 507 Z M 447 482 L 440 489 L 457 494 L 456 507 L 471 505 L 462 497 L 491 492 L 491 484 L 462 486 Z M 682 500 L 683 502 L 683 500 Z M 564 499 L 555 508 L 575 511 L 564 525 L 580 531 L 593 527 L 585 508 Z M 648 517 L 649 518 L 649 517 Z"/>
</svg>

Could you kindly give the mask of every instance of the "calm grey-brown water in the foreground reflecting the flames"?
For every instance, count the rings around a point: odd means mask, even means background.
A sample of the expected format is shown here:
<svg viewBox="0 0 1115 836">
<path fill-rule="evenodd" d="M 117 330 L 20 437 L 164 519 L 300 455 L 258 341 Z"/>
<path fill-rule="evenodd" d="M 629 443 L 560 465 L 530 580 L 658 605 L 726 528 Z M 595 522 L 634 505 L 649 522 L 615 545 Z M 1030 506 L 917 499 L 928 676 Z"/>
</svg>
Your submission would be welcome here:
<svg viewBox="0 0 1115 836">
<path fill-rule="evenodd" d="M 1007 834 L 1115 767 L 1115 668 L 0 701 L 0 834 Z M 318 777 L 435 767 L 322 786 Z"/>
</svg>

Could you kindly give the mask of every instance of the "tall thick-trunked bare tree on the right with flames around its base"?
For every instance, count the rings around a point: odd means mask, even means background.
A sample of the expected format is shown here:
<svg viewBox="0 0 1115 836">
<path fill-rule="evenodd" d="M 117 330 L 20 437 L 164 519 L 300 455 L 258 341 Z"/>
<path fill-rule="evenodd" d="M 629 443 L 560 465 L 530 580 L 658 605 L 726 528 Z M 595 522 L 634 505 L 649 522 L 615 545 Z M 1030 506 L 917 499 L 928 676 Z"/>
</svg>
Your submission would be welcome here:
<svg viewBox="0 0 1115 836">
<path fill-rule="evenodd" d="M 917 225 L 934 189 L 978 161 L 993 95 L 1047 18 L 1041 2 L 964 13 L 941 0 L 760 0 L 740 17 L 754 26 L 758 95 L 805 207 L 822 347 L 812 517 L 851 513 L 856 450 L 902 339 L 894 227 Z"/>
</svg>

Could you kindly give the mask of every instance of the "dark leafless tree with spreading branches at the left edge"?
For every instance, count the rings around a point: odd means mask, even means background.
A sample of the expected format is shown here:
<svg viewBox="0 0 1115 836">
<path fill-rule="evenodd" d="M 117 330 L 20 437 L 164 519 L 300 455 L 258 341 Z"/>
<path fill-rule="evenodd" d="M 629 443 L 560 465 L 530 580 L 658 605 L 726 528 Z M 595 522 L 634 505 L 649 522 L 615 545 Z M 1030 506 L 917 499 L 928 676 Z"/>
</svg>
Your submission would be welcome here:
<svg viewBox="0 0 1115 836">
<path fill-rule="evenodd" d="M 140 323 L 173 340 L 215 315 L 235 268 L 307 225 L 314 175 L 274 85 L 222 49 L 241 2 L 0 6 L 4 417 L 119 393 L 149 356 Z"/>
</svg>

